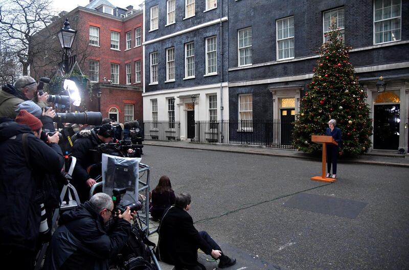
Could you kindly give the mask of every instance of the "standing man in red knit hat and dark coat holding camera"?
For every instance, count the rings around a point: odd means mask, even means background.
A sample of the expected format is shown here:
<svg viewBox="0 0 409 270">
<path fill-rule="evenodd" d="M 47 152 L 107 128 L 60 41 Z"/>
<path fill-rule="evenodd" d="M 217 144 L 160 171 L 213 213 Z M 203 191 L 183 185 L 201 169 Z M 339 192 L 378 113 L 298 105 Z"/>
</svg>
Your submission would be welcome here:
<svg viewBox="0 0 409 270">
<path fill-rule="evenodd" d="M 64 159 L 58 132 L 48 136 L 47 145 L 39 139 L 39 119 L 21 110 L 15 121 L 0 124 L 0 260 L 32 269 L 43 229 L 43 176 L 59 174 Z"/>
</svg>

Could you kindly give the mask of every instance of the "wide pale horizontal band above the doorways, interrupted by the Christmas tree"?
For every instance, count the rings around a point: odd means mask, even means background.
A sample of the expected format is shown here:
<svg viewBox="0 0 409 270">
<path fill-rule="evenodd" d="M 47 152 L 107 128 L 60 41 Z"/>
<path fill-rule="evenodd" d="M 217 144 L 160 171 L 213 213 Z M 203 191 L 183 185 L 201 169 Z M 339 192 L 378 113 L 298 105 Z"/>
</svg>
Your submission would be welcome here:
<svg viewBox="0 0 409 270">
<path fill-rule="evenodd" d="M 383 64 L 383 65 L 361 66 L 361 67 L 355 68 L 354 70 L 356 73 L 363 73 L 363 72 L 374 72 L 374 71 L 404 69 L 404 68 L 409 68 L 409 61 L 400 62 L 400 63 Z M 313 75 L 314 75 L 313 73 L 309 73 L 309 74 L 303 74 L 303 75 L 285 76 L 285 77 L 269 78 L 269 79 L 253 80 L 253 81 L 230 82 L 229 87 L 307 80 L 307 79 L 311 79 Z"/>
</svg>

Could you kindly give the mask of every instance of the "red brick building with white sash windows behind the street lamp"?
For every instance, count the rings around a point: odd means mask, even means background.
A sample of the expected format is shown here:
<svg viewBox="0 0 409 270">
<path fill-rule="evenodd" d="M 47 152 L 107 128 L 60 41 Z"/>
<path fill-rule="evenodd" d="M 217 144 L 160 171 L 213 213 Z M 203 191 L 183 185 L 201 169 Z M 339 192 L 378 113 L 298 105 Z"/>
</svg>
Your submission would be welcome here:
<svg viewBox="0 0 409 270">
<path fill-rule="evenodd" d="M 78 31 L 72 55 L 76 55 L 82 73 L 92 83 L 92 101 L 84 97 L 88 100 L 88 110 L 98 110 L 100 91 L 104 118 L 118 122 L 143 120 L 143 11 L 132 6 L 115 7 L 106 0 L 91 0 L 87 6 L 61 16 L 48 28 L 57 33 L 65 18 L 69 19 L 71 28 Z M 55 39 L 53 36 L 50 42 L 59 46 Z M 58 54 L 54 58 L 58 59 Z M 37 58 L 35 76 L 56 74 L 58 65 L 51 60 L 51 57 Z M 44 61 L 48 61 L 47 64 L 44 65 Z"/>
</svg>

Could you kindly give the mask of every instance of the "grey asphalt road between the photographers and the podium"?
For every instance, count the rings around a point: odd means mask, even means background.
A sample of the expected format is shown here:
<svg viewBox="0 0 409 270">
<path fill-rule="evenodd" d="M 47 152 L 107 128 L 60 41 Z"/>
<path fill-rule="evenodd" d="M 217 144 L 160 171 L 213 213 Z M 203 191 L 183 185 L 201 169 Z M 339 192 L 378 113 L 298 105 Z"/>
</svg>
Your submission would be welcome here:
<svg viewBox="0 0 409 270">
<path fill-rule="evenodd" d="M 316 161 L 160 146 L 144 153 L 151 188 L 166 174 L 175 193 L 192 195 L 196 228 L 237 257 L 231 269 L 409 268 L 407 168 L 340 164 L 337 182 L 325 184 L 310 181 L 321 172 Z M 302 195 L 320 195 L 324 213 Z M 357 216 L 342 216 L 355 203 Z"/>
</svg>

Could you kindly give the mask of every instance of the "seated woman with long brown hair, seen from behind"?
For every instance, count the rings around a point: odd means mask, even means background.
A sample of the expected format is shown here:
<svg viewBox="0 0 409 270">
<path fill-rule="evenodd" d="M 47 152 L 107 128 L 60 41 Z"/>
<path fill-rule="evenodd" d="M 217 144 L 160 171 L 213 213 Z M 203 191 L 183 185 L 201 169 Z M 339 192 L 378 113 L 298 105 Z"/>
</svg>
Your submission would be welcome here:
<svg viewBox="0 0 409 270">
<path fill-rule="evenodd" d="M 166 208 L 175 204 L 175 193 L 168 176 L 159 179 L 156 188 L 152 190 L 152 207 L 149 212 L 153 219 L 161 219 Z"/>
</svg>

